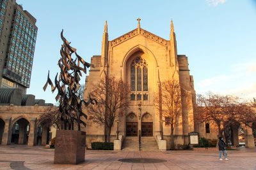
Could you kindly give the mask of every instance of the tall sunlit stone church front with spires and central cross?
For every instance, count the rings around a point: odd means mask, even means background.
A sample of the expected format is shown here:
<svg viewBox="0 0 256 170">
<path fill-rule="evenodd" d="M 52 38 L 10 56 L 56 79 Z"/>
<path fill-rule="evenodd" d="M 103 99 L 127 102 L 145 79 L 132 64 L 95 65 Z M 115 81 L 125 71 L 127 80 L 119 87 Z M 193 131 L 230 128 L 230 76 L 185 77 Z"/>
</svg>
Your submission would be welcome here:
<svg viewBox="0 0 256 170">
<path fill-rule="evenodd" d="M 186 90 L 186 97 L 182 97 L 182 115 L 180 125 L 175 128 L 175 143 L 188 144 L 188 133 L 198 131 L 194 125 L 195 89 L 193 76 L 189 73 L 188 57 L 177 54 L 173 22 L 170 29 L 170 40 L 163 39 L 140 27 L 126 34 L 109 40 L 108 25 L 105 24 L 102 36 L 101 55 L 94 55 L 91 59 L 89 76 L 86 77 L 84 97 L 103 78 L 105 74 L 122 78 L 131 88 L 129 109 L 125 116 L 118 120 L 119 131 L 122 136 L 152 136 L 156 138 L 160 133 L 159 115 L 154 106 L 154 93 L 160 82 L 165 80 L 179 81 Z M 90 113 L 88 113 L 90 114 Z M 164 118 L 163 118 L 164 120 Z M 116 123 L 111 131 L 115 138 Z M 103 141 L 104 125 L 88 122 L 86 143 Z M 170 144 L 170 125 L 168 120 L 163 124 L 164 139 L 167 148 Z"/>
</svg>

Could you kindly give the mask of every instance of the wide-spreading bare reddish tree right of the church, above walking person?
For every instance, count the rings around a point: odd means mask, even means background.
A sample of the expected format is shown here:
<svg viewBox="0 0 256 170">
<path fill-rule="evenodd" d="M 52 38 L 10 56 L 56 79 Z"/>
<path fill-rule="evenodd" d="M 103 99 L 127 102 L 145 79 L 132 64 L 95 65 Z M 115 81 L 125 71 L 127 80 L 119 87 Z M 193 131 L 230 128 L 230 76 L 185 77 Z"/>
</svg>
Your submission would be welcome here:
<svg viewBox="0 0 256 170">
<path fill-rule="evenodd" d="M 255 114 L 248 103 L 234 96 L 221 96 L 208 93 L 197 96 L 198 114 L 196 120 L 200 122 L 214 122 L 218 127 L 218 136 L 231 125 L 237 123 L 250 125 Z"/>
</svg>

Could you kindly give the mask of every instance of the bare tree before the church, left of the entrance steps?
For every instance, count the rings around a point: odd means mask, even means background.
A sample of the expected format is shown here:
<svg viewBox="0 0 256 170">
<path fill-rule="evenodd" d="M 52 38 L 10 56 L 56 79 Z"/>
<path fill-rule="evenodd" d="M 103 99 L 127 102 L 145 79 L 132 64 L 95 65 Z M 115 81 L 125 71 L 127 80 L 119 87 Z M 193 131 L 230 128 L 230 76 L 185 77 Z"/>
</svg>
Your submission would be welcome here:
<svg viewBox="0 0 256 170">
<path fill-rule="evenodd" d="M 128 107 L 129 88 L 122 79 L 115 76 L 102 78 L 90 92 L 90 96 L 98 101 L 96 105 L 88 105 L 89 119 L 106 127 L 106 142 L 110 141 L 111 129 L 118 117 L 122 117 Z"/>
</svg>

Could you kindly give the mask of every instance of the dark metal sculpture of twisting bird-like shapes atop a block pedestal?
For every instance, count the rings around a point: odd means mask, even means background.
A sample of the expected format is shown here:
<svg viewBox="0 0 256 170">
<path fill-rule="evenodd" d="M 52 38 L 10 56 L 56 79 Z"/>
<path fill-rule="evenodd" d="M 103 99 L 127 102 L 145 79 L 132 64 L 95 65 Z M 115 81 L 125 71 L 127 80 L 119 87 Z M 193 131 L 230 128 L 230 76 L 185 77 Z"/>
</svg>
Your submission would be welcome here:
<svg viewBox="0 0 256 170">
<path fill-rule="evenodd" d="M 51 79 L 49 78 L 49 71 L 47 82 L 44 85 L 44 91 L 47 85 L 51 85 L 52 93 L 54 90 L 58 90 L 58 94 L 55 97 L 56 101 L 59 101 L 59 111 L 61 114 L 61 121 L 63 122 L 63 129 L 74 130 L 74 121 L 77 123 L 77 130 L 81 130 L 80 124 L 86 127 L 86 123 L 81 120 L 81 117 L 87 118 L 86 114 L 82 111 L 82 104 L 85 106 L 88 104 L 97 104 L 95 99 L 89 96 L 89 100 L 86 102 L 83 99 L 77 97 L 77 90 L 79 90 L 80 76 L 82 76 L 81 71 L 86 74 L 86 67 L 90 67 L 88 62 L 85 62 L 82 57 L 76 53 L 76 48 L 72 48 L 67 39 L 63 36 L 63 30 L 61 31 L 61 39 L 63 45 L 61 45 L 60 55 L 61 58 L 58 61 L 58 66 L 60 67 L 60 76 L 58 73 L 55 76 L 55 86 L 53 85 Z M 72 53 L 76 54 L 76 59 L 72 59 Z M 83 64 L 83 67 L 80 65 Z"/>
</svg>

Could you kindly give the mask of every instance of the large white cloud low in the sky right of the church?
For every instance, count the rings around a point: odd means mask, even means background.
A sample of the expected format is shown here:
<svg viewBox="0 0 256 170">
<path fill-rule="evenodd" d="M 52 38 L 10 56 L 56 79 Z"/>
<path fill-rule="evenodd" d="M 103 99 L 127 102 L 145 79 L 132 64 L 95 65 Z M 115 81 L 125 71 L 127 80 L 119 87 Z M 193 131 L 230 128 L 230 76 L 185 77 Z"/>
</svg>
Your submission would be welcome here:
<svg viewBox="0 0 256 170">
<path fill-rule="evenodd" d="M 246 100 L 256 97 L 256 60 L 234 64 L 223 74 L 205 78 L 196 83 L 197 94 L 211 91 L 215 94 L 233 95 Z"/>
</svg>

